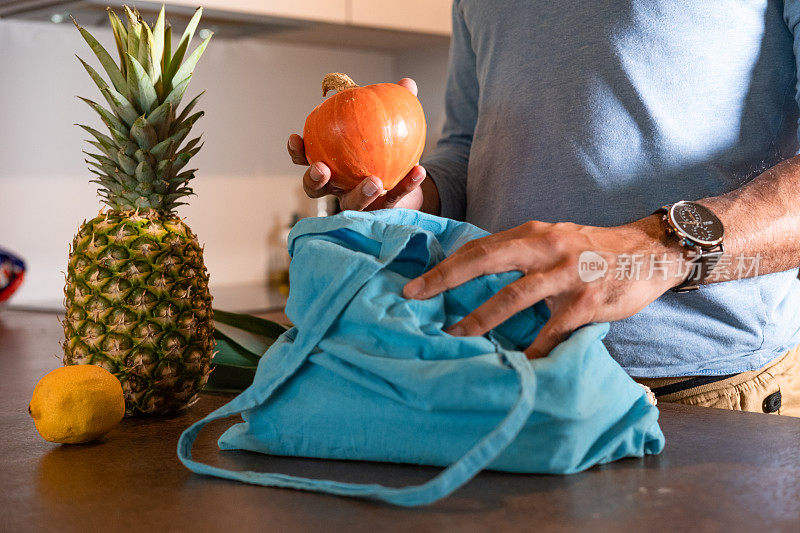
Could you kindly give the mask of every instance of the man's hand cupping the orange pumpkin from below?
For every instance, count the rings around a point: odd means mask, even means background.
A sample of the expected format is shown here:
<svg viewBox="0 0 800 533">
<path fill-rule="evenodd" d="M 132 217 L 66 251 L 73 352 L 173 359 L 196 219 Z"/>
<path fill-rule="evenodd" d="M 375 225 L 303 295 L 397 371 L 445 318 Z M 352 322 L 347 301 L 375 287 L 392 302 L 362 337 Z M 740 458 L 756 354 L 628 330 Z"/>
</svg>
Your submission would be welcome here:
<svg viewBox="0 0 800 533">
<path fill-rule="evenodd" d="M 403 78 L 398 84 L 414 95 L 417 94 L 417 84 L 414 80 Z M 302 137 L 295 134 L 290 135 L 287 148 L 295 164 L 308 165 Z M 402 181 L 388 192 L 384 191 L 383 182 L 376 176 L 365 178 L 352 191 L 337 189 L 329 183 L 330 179 L 331 170 L 327 165 L 318 161 L 306 169 L 306 173 L 303 175 L 303 189 L 310 198 L 320 198 L 328 194 L 337 196 L 343 210 L 364 211 L 390 207 L 421 209 L 423 205 L 420 185 L 425 180 L 425 169 L 420 165 L 415 165 Z"/>
</svg>

